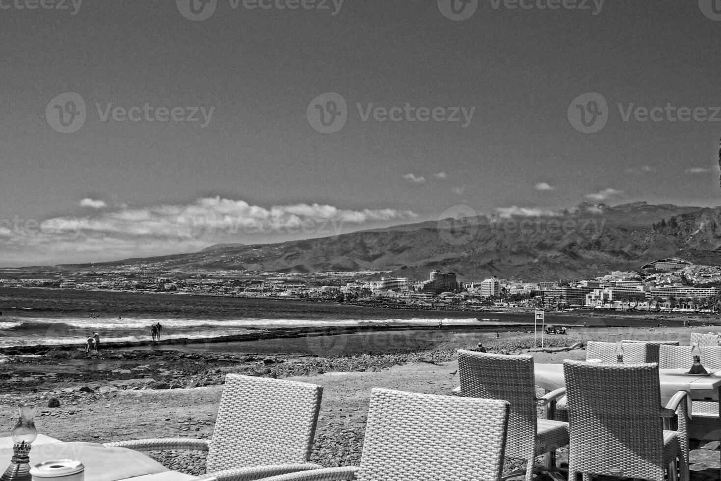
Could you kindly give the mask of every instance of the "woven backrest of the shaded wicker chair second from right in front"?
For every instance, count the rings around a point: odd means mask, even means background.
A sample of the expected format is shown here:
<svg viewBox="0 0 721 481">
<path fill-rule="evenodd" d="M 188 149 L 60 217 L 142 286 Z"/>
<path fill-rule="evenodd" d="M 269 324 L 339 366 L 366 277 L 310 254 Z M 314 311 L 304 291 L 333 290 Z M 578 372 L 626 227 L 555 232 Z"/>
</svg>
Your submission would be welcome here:
<svg viewBox="0 0 721 481">
<path fill-rule="evenodd" d="M 458 351 L 461 395 L 510 402 L 505 455 L 526 459 L 538 426 L 534 358 Z"/>
</svg>

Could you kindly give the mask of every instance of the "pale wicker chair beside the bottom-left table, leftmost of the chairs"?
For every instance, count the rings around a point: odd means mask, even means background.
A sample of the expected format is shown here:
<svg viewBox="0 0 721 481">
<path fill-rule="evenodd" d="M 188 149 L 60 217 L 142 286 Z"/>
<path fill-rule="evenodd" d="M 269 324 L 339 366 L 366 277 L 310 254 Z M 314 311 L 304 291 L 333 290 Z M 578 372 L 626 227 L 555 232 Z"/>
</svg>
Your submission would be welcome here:
<svg viewBox="0 0 721 481">
<path fill-rule="evenodd" d="M 318 469 L 309 460 L 322 391 L 315 384 L 228 374 L 210 440 L 140 439 L 105 446 L 208 451 L 204 477 L 220 481 Z"/>
</svg>

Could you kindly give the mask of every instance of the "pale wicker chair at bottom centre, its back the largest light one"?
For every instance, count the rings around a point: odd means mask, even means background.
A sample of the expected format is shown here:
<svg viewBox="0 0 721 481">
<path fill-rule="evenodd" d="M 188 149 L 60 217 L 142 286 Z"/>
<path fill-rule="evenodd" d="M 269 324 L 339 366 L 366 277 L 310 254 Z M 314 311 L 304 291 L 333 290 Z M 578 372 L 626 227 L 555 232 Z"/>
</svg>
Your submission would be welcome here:
<svg viewBox="0 0 721 481">
<path fill-rule="evenodd" d="M 373 389 L 358 467 L 264 481 L 498 481 L 508 402 Z"/>
</svg>

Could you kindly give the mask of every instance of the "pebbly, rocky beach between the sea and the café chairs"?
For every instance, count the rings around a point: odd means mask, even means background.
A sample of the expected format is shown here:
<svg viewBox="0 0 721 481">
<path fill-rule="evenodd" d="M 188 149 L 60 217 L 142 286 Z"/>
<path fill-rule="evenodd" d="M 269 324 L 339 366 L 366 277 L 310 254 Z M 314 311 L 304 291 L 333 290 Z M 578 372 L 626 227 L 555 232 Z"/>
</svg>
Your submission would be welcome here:
<svg viewBox="0 0 721 481">
<path fill-rule="evenodd" d="M 452 330 L 453 327 L 447 327 Z M 679 340 L 689 343 L 690 332 L 712 328 L 614 327 L 575 329 L 569 335 L 546 335 L 545 345 L 571 345 L 579 340 Z M 430 345 L 404 353 L 358 354 L 342 357 L 307 355 L 230 354 L 207 351 L 182 353 L 173 346 L 156 350 L 50 350 L 40 355 L 11 356 L 1 365 L 4 392 L 0 431 L 9 433 L 17 418 L 18 402 L 40 406 L 37 428 L 63 441 L 120 441 L 151 437 L 208 438 L 213 432 L 226 373 L 271 376 L 307 381 L 324 387 L 314 461 L 325 466 L 358 464 L 363 445 L 368 397 L 373 387 L 412 392 L 450 394 L 459 384 L 456 349 L 474 348 L 484 339 L 492 352 L 528 352 L 534 336 L 488 332 L 469 336 L 435 336 Z M 324 339 L 332 347 L 332 336 Z M 540 341 L 540 336 L 539 336 Z M 428 348 L 430 347 L 430 348 Z M 533 353 L 536 363 L 583 359 L 585 349 Z M 60 407 L 48 407 L 55 398 Z M 715 453 L 716 462 L 719 459 Z M 202 472 L 198 453 L 156 453 L 172 469 Z M 559 454 L 563 460 L 563 455 Z M 512 462 L 512 461 L 510 461 Z M 712 472 L 695 465 L 696 480 Z"/>
</svg>

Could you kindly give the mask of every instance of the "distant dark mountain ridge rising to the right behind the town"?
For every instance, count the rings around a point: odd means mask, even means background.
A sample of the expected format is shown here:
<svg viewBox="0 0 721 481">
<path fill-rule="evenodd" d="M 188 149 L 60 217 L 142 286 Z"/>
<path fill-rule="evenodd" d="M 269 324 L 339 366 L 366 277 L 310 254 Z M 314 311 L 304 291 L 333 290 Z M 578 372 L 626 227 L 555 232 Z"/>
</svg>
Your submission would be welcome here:
<svg viewBox="0 0 721 481">
<path fill-rule="evenodd" d="M 721 207 L 645 202 L 581 203 L 547 216 L 425 221 L 278 244 L 216 244 L 200 252 L 65 265 L 64 268 L 265 270 L 279 273 L 392 270 L 426 278 L 453 270 L 465 281 L 527 281 L 634 270 L 663 257 L 721 265 Z"/>
</svg>

